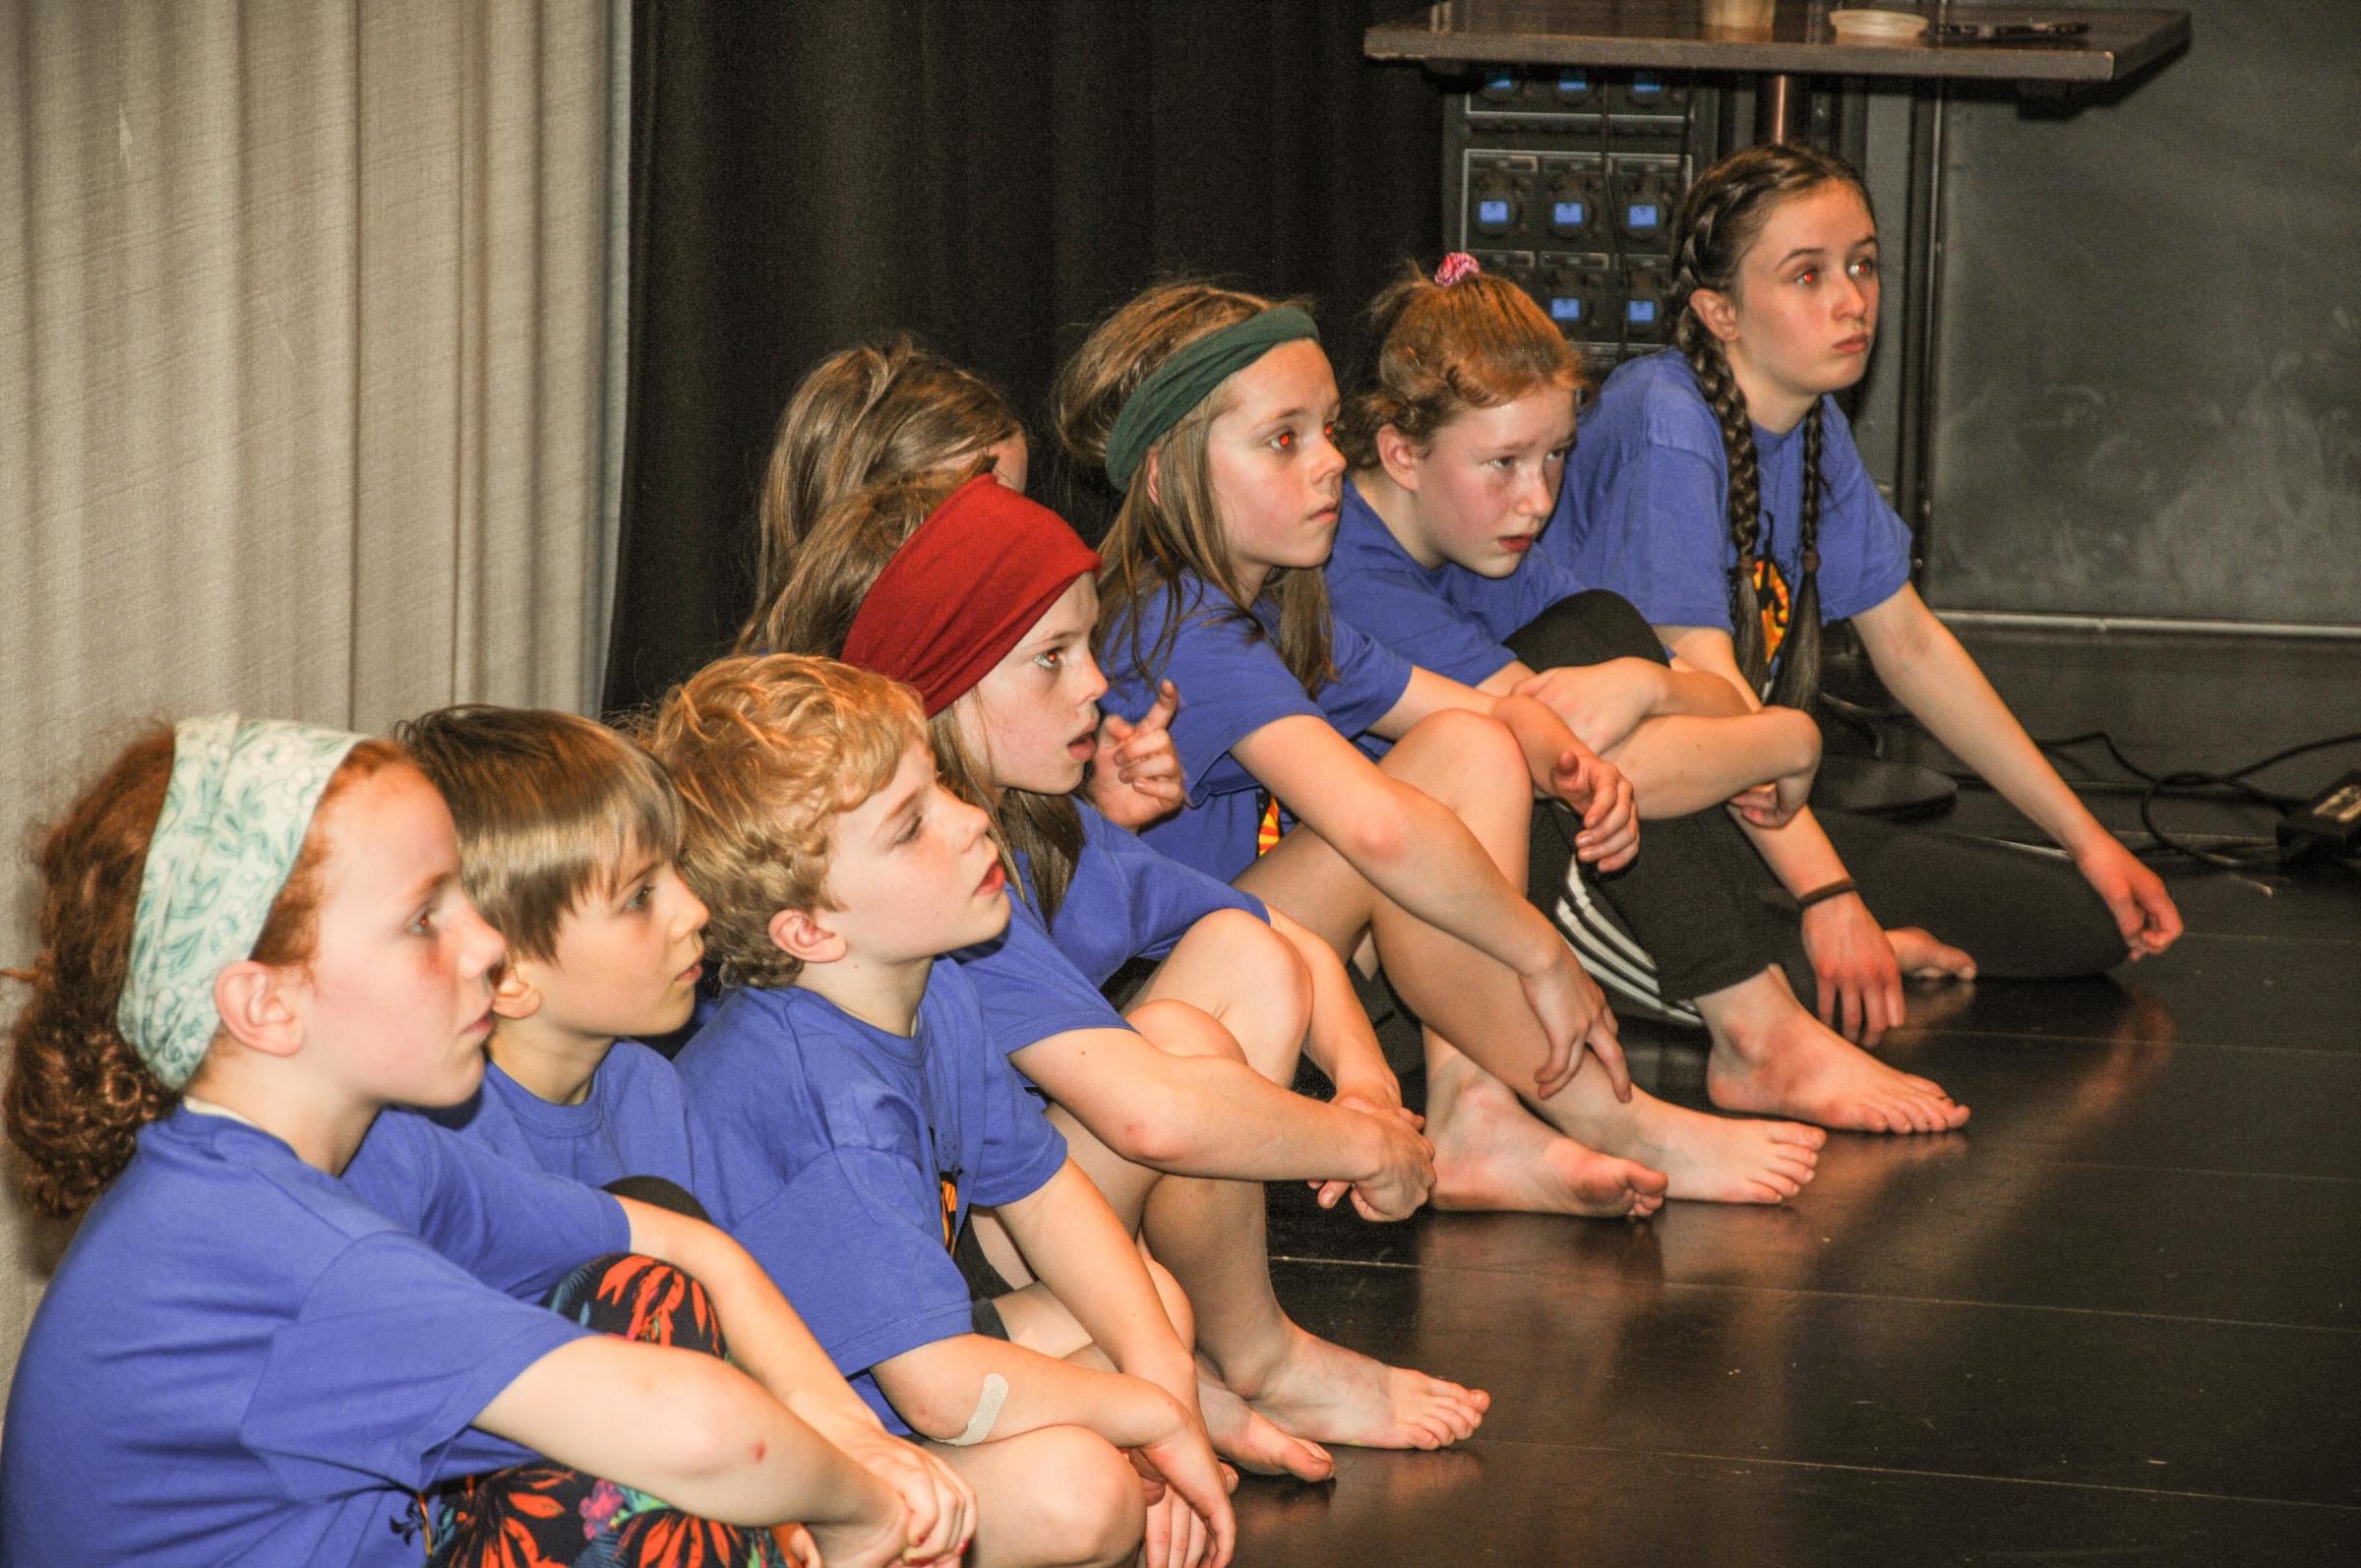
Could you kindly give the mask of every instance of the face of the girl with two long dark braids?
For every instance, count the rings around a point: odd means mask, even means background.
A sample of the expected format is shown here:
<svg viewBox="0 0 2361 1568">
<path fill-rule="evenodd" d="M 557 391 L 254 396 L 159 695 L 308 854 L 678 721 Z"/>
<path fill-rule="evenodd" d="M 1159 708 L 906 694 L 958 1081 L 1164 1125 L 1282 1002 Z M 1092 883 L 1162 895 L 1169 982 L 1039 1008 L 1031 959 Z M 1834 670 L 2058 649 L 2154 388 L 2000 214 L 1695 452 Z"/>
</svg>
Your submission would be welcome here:
<svg viewBox="0 0 2361 1568">
<path fill-rule="evenodd" d="M 1877 224 L 1849 184 L 1783 201 L 1738 262 L 1738 335 L 1726 340 L 1742 385 L 1813 399 L 1860 380 L 1877 335 Z"/>
</svg>

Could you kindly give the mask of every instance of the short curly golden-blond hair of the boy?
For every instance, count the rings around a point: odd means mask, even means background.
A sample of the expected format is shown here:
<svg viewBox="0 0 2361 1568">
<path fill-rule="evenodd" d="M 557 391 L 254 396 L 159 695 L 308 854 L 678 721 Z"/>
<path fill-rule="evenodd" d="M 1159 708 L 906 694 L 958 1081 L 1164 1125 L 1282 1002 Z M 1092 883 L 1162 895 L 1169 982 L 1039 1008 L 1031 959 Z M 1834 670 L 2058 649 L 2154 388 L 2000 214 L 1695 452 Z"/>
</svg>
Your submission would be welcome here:
<svg viewBox="0 0 2361 1568">
<path fill-rule="evenodd" d="M 926 741 L 918 697 L 803 654 L 734 654 L 673 687 L 645 744 L 682 803 L 680 876 L 704 900 L 725 985 L 793 985 L 770 937 L 781 909 L 836 909 L 829 824 L 885 789 Z"/>
</svg>

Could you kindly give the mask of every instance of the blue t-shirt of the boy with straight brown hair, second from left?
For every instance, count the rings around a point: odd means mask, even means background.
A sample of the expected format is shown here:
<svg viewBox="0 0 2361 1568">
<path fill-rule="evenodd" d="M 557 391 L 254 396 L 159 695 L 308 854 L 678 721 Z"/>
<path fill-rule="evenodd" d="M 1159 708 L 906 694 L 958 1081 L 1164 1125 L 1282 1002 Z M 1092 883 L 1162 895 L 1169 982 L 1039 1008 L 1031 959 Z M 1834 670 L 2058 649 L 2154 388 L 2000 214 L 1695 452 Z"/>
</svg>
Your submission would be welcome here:
<svg viewBox="0 0 2361 1568">
<path fill-rule="evenodd" d="M 489 1063 L 472 1100 L 425 1115 L 505 1159 L 593 1188 L 661 1176 L 696 1190 L 680 1074 L 635 1039 L 614 1041 L 581 1105 L 550 1105 Z"/>
</svg>

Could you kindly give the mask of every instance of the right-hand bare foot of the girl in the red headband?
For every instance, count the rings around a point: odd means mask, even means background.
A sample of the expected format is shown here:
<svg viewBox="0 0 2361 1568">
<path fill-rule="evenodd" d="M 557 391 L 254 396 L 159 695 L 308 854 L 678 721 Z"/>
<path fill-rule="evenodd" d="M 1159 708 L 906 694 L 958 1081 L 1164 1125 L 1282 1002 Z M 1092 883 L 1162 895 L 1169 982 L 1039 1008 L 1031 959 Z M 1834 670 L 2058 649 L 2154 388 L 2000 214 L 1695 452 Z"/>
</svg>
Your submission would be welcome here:
<svg viewBox="0 0 2361 1568">
<path fill-rule="evenodd" d="M 1473 1436 L 1492 1407 L 1483 1389 L 1388 1367 L 1294 1325 L 1287 1329 L 1287 1351 L 1237 1386 L 1237 1396 L 1282 1433 L 1353 1448 L 1447 1448 Z"/>
</svg>

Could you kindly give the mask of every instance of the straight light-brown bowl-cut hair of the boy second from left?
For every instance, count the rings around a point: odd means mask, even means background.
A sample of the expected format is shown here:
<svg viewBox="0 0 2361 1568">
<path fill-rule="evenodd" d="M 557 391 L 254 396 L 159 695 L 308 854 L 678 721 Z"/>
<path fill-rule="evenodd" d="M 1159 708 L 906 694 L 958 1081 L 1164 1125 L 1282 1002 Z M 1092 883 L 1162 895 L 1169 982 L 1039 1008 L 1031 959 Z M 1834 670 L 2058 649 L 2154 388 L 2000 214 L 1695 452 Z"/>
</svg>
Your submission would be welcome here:
<svg viewBox="0 0 2361 1568">
<path fill-rule="evenodd" d="M 460 881 L 508 949 L 543 963 L 633 852 L 680 852 L 680 796 L 628 739 L 550 708 L 437 708 L 394 730 L 458 824 Z"/>
</svg>

